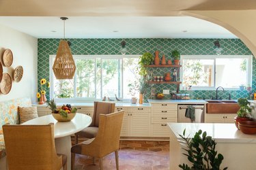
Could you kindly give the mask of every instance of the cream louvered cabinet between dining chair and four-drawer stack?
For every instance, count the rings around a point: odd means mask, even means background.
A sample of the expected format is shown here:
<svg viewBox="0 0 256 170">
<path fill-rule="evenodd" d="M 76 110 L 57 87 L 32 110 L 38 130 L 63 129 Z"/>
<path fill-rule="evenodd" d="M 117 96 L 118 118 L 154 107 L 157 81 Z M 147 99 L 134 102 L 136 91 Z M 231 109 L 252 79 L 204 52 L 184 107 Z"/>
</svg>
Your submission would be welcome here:
<svg viewBox="0 0 256 170">
<path fill-rule="evenodd" d="M 116 107 L 124 110 L 122 137 L 150 137 L 150 107 Z"/>
</svg>

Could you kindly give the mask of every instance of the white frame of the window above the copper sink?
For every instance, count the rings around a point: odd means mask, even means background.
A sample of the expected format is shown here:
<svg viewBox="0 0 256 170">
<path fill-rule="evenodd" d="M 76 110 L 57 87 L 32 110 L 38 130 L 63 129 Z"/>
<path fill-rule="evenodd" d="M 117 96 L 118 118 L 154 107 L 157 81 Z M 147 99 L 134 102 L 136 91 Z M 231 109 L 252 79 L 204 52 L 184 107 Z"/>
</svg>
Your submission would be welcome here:
<svg viewBox="0 0 256 170">
<path fill-rule="evenodd" d="M 192 86 L 191 90 L 216 90 L 216 58 L 247 58 L 248 59 L 248 72 L 246 73 L 247 84 L 252 86 L 252 67 L 253 67 L 253 56 L 252 55 L 181 55 L 180 56 L 180 65 L 183 64 L 184 59 L 212 59 L 214 60 L 214 86 L 213 87 L 205 87 L 205 86 Z M 183 65 L 182 65 L 183 67 Z M 180 69 L 180 80 L 182 82 L 182 67 Z M 186 87 L 183 84 L 180 84 L 181 90 L 186 90 Z M 240 88 L 225 88 L 225 90 L 240 90 Z"/>
</svg>

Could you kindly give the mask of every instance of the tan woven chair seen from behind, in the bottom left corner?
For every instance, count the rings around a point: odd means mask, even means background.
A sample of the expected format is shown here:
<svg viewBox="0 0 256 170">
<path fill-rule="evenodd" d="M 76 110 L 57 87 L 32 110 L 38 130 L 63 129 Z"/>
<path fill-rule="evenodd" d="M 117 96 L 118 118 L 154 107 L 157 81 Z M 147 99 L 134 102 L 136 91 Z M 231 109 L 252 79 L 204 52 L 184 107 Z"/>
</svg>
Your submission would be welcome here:
<svg viewBox="0 0 256 170">
<path fill-rule="evenodd" d="M 9 170 L 63 170 L 67 156 L 57 154 L 53 124 L 3 125 L 3 137 Z"/>
</svg>

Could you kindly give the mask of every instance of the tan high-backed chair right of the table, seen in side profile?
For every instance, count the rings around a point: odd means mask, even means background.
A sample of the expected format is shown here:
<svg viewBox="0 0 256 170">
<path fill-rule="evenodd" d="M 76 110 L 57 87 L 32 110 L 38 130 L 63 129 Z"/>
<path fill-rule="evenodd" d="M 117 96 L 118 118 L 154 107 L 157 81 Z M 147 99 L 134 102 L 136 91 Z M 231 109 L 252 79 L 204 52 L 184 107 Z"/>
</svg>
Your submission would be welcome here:
<svg viewBox="0 0 256 170">
<path fill-rule="evenodd" d="M 112 152 L 115 152 L 115 163 L 117 170 L 119 138 L 122 128 L 124 111 L 114 112 L 112 114 L 100 114 L 99 131 L 95 138 L 88 139 L 71 148 L 71 169 L 74 170 L 76 154 L 92 156 L 99 158 L 100 169 L 103 169 L 102 158 Z"/>
</svg>

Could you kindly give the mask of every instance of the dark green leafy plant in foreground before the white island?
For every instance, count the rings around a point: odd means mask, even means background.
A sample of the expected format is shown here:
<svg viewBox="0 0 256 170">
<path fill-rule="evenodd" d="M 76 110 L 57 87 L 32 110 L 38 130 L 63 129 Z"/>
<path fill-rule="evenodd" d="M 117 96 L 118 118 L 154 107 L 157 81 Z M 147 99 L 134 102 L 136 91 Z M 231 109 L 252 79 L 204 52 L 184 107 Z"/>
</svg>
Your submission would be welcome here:
<svg viewBox="0 0 256 170">
<path fill-rule="evenodd" d="M 221 167 L 223 161 L 223 155 L 218 154 L 215 151 L 216 142 L 212 139 L 211 136 L 207 136 L 206 132 L 199 130 L 195 133 L 195 136 L 192 138 L 185 137 L 186 129 L 183 131 L 183 135 L 180 135 L 184 141 L 183 145 L 186 148 L 186 156 L 188 160 L 192 163 L 192 167 L 189 167 L 187 164 L 179 165 L 181 169 L 190 170 L 190 169 L 212 169 L 218 170 Z M 227 169 L 225 167 L 223 170 Z"/>
</svg>

